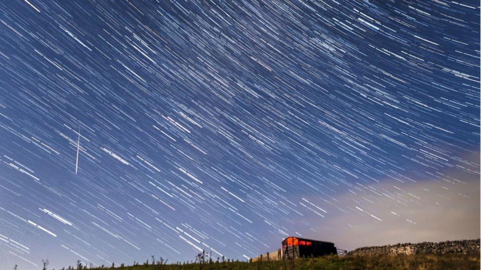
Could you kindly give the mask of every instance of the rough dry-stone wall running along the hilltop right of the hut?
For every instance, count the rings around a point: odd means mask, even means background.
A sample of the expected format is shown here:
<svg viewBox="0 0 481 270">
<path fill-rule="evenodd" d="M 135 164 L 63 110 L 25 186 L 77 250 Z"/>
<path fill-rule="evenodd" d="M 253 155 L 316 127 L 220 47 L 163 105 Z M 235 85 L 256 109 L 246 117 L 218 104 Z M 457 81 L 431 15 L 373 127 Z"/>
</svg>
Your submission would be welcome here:
<svg viewBox="0 0 481 270">
<path fill-rule="evenodd" d="M 479 239 L 359 247 L 348 255 L 478 253 Z"/>
</svg>

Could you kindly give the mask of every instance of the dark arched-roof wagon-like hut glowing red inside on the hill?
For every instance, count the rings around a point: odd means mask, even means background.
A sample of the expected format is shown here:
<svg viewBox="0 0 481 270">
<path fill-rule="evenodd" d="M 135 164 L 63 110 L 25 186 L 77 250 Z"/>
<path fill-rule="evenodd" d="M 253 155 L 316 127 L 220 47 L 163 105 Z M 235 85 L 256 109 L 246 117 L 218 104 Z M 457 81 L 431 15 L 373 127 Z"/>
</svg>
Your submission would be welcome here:
<svg viewBox="0 0 481 270">
<path fill-rule="evenodd" d="M 283 258 L 319 257 L 337 254 L 334 243 L 289 236 L 282 241 Z"/>
</svg>

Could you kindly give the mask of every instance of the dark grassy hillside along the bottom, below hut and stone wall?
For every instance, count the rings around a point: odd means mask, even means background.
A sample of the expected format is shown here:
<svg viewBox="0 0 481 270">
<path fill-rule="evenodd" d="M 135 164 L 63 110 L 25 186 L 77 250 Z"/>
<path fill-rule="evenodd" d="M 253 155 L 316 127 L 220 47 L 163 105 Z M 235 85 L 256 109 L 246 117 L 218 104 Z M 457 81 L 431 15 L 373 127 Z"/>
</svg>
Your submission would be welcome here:
<svg viewBox="0 0 481 270">
<path fill-rule="evenodd" d="M 122 270 L 479 269 L 477 254 L 324 256 L 282 261 L 213 262 L 116 267 Z M 96 268 L 101 269 L 101 268 Z M 105 268 L 104 268 L 105 269 Z"/>
</svg>

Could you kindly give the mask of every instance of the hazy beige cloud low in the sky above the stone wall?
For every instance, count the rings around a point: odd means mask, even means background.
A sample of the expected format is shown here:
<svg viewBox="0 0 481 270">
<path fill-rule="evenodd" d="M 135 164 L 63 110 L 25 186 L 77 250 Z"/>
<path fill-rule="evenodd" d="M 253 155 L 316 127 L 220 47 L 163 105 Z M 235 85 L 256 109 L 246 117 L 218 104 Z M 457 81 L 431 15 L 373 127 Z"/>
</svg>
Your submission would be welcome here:
<svg viewBox="0 0 481 270">
<path fill-rule="evenodd" d="M 478 156 L 477 156 L 478 158 Z M 476 161 L 478 162 L 478 161 Z M 451 168 L 431 179 L 358 184 L 336 197 L 342 210 L 309 217 L 303 236 L 338 248 L 479 238 L 479 173 Z M 315 197 L 309 198 L 313 201 Z"/>
</svg>

